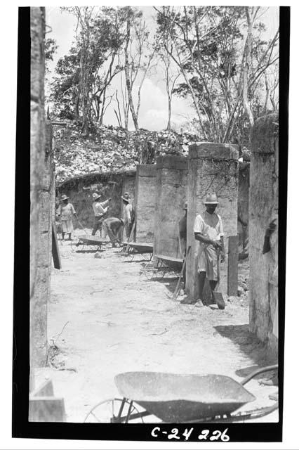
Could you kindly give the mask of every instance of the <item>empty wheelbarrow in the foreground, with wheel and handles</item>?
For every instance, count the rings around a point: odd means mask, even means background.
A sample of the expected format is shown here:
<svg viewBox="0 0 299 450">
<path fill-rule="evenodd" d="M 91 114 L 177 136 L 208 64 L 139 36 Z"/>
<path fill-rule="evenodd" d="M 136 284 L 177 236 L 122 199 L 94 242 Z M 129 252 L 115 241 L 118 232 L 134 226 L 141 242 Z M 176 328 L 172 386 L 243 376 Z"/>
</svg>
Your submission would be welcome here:
<svg viewBox="0 0 299 450">
<path fill-rule="evenodd" d="M 235 423 L 267 416 L 271 406 L 236 412 L 255 400 L 244 385 L 256 375 L 277 370 L 260 368 L 241 383 L 225 375 L 181 375 L 159 372 L 126 372 L 114 378 L 121 398 L 101 401 L 84 422 L 100 423 Z"/>
</svg>

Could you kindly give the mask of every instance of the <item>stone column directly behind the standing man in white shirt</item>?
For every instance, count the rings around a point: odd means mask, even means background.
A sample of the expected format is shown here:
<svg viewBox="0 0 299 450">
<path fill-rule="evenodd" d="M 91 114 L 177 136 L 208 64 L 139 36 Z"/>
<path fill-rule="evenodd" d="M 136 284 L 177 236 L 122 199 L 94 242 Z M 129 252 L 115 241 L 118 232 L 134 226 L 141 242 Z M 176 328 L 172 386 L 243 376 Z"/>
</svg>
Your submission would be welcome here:
<svg viewBox="0 0 299 450">
<path fill-rule="evenodd" d="M 216 212 L 222 217 L 225 236 L 237 235 L 238 152 L 234 146 L 223 143 L 197 143 L 189 148 L 187 184 L 187 247 L 191 251 L 187 260 L 186 291 L 194 300 L 198 298 L 197 251 L 194 239 L 194 219 L 204 212 L 208 193 L 218 196 Z M 225 250 L 227 252 L 227 239 Z M 227 265 L 221 264 L 221 289 L 227 290 Z"/>
</svg>

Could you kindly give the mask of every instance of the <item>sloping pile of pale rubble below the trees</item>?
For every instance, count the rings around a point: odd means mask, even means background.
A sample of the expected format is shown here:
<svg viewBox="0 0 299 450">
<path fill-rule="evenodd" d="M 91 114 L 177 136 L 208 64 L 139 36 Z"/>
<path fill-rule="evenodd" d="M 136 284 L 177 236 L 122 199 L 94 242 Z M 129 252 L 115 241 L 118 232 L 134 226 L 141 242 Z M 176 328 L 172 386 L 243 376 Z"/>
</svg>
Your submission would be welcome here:
<svg viewBox="0 0 299 450">
<path fill-rule="evenodd" d="M 123 172 L 137 164 L 152 164 L 159 155 L 185 155 L 188 145 L 198 140 L 192 134 L 175 131 L 126 131 L 99 126 L 88 137 L 76 122 L 54 127 L 56 181 L 85 174 Z"/>
</svg>

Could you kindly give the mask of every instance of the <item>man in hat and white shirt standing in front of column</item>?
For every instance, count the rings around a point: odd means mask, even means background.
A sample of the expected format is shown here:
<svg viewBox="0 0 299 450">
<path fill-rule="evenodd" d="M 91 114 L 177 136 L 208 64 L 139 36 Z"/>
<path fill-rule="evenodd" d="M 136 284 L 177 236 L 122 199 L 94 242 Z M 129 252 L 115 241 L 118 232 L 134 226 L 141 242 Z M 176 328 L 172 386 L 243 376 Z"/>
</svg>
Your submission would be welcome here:
<svg viewBox="0 0 299 450">
<path fill-rule="evenodd" d="M 199 242 L 197 255 L 197 272 L 199 277 L 199 299 L 192 300 L 199 306 L 204 304 L 203 291 L 206 278 L 210 283 L 211 290 L 215 290 L 218 282 L 217 260 L 225 261 L 225 249 L 223 241 L 222 219 L 215 212 L 219 205 L 217 195 L 207 195 L 204 202 L 206 210 L 198 214 L 194 221 L 194 238 Z"/>
</svg>

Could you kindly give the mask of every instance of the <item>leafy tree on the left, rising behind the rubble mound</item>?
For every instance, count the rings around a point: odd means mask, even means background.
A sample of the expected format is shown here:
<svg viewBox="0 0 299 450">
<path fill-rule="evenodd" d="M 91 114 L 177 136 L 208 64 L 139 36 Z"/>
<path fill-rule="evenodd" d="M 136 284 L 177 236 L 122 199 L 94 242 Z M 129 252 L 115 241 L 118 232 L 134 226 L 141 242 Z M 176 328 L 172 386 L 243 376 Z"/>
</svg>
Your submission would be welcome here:
<svg viewBox="0 0 299 450">
<path fill-rule="evenodd" d="M 58 117 L 79 120 L 82 134 L 93 122 L 102 124 L 107 89 L 121 71 L 117 54 L 121 35 L 109 8 L 63 8 L 77 18 L 77 34 L 69 54 L 60 58 L 51 84 L 51 100 Z"/>
</svg>

